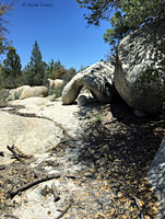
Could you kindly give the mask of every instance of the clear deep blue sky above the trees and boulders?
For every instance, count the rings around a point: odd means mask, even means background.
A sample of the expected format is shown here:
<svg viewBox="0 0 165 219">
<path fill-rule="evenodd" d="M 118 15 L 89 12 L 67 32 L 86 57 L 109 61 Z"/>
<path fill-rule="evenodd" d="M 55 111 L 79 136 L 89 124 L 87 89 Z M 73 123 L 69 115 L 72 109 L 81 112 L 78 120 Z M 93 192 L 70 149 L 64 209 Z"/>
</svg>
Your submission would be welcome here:
<svg viewBox="0 0 165 219">
<path fill-rule="evenodd" d="M 103 34 L 109 23 L 87 27 L 84 12 L 75 0 L 15 0 L 14 10 L 4 19 L 9 21 L 8 38 L 13 42 L 22 66 L 30 61 L 35 41 L 44 61 L 59 59 L 66 68 L 78 70 L 81 65 L 105 59 L 110 48 Z"/>
</svg>

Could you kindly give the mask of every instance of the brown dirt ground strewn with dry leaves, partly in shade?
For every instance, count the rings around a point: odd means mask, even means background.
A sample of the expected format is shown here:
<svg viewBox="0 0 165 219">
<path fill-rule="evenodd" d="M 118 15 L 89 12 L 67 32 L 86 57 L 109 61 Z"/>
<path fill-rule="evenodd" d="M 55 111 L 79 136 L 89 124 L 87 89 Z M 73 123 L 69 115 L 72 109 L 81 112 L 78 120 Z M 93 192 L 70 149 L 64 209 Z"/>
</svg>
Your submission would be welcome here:
<svg viewBox="0 0 165 219">
<path fill-rule="evenodd" d="M 85 163 L 86 169 L 61 181 L 73 183 L 79 191 L 83 189 L 83 195 L 72 193 L 70 201 L 62 204 L 69 207 L 61 218 L 154 219 L 156 195 L 146 175 L 165 134 L 165 119 L 137 117 L 121 101 L 89 104 L 81 107 L 79 114 L 83 119 L 82 139 L 87 143 L 80 149 L 74 163 Z M 66 136 L 49 154 L 64 157 L 68 148 L 74 147 L 72 139 Z M 13 163 L 0 166 L 0 216 L 3 218 L 17 218 L 12 215 L 17 203 L 10 192 L 46 174 L 38 166 L 31 166 L 33 158 L 22 160 L 23 163 L 13 159 Z M 58 169 L 57 162 L 47 165 Z M 52 189 L 45 188 L 44 195 L 52 195 Z"/>
</svg>

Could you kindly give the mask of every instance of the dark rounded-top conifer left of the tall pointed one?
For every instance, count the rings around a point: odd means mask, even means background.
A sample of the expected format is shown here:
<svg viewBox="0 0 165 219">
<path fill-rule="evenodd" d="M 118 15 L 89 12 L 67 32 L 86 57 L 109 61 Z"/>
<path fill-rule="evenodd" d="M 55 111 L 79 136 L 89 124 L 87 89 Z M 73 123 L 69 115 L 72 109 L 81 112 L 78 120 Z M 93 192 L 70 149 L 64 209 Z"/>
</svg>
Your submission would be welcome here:
<svg viewBox="0 0 165 219">
<path fill-rule="evenodd" d="M 16 49 L 10 46 L 2 66 L 2 87 L 16 88 L 19 85 L 19 78 L 22 76 L 21 68 L 20 56 L 16 54 Z"/>
</svg>

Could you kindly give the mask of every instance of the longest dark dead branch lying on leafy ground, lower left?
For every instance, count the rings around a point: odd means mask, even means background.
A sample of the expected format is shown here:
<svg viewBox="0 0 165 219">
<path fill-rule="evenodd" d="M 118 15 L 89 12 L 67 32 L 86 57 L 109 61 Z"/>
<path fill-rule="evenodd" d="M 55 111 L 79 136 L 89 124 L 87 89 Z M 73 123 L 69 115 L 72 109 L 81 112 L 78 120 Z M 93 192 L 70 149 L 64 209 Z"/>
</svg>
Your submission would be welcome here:
<svg viewBox="0 0 165 219">
<path fill-rule="evenodd" d="M 16 188 L 15 191 L 10 191 L 10 192 L 9 192 L 9 195 L 10 195 L 11 198 L 13 198 L 13 197 L 14 197 L 15 195 L 17 195 L 20 192 L 26 191 L 26 189 L 28 189 L 28 188 L 31 188 L 31 187 L 33 187 L 33 186 L 39 184 L 39 183 L 43 183 L 43 182 L 46 182 L 46 181 L 50 181 L 50 180 L 52 180 L 52 178 L 59 178 L 59 177 L 60 177 L 59 174 L 50 174 L 50 175 L 47 175 L 47 176 L 37 178 L 37 180 L 35 180 L 35 181 L 33 181 L 33 182 L 31 182 L 31 183 L 27 183 L 27 184 L 23 185 L 23 186 L 20 187 L 20 188 Z"/>
</svg>

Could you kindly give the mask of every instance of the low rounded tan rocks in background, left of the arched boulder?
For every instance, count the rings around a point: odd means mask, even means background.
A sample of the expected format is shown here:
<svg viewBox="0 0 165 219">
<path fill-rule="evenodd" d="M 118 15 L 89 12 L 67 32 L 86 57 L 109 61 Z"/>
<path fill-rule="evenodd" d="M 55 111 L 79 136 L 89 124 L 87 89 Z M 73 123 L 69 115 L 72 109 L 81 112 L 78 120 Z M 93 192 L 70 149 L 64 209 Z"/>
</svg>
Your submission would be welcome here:
<svg viewBox="0 0 165 219">
<path fill-rule="evenodd" d="M 40 87 L 23 85 L 14 90 L 11 90 L 8 101 L 23 100 L 32 96 L 43 97 L 47 95 L 48 95 L 48 89 L 44 85 Z"/>
</svg>

